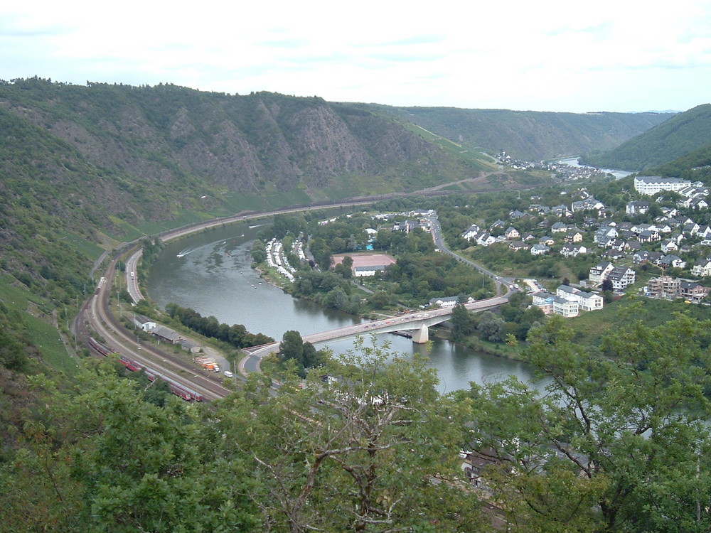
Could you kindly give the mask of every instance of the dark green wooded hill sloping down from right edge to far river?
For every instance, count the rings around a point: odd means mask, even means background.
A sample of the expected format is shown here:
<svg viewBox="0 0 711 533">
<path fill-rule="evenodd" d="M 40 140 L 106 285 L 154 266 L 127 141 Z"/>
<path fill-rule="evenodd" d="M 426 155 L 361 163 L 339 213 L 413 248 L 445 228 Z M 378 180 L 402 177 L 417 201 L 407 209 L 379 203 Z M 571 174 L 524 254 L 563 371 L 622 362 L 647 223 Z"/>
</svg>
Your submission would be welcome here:
<svg viewBox="0 0 711 533">
<path fill-rule="evenodd" d="M 703 104 L 626 141 L 584 163 L 604 168 L 645 171 L 663 166 L 711 143 L 711 104 Z"/>
</svg>

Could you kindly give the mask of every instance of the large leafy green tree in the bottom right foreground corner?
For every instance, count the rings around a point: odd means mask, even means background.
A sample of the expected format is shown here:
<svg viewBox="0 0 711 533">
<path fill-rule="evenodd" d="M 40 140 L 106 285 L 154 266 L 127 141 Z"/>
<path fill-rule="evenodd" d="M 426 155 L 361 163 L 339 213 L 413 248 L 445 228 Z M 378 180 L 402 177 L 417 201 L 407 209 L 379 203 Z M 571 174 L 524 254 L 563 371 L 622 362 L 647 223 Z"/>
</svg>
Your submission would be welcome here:
<svg viewBox="0 0 711 533">
<path fill-rule="evenodd" d="M 711 527 L 709 323 L 656 328 L 623 317 L 593 354 L 554 318 L 525 357 L 538 394 L 511 379 L 473 386 L 488 478 L 523 531 L 707 531 Z"/>
</svg>

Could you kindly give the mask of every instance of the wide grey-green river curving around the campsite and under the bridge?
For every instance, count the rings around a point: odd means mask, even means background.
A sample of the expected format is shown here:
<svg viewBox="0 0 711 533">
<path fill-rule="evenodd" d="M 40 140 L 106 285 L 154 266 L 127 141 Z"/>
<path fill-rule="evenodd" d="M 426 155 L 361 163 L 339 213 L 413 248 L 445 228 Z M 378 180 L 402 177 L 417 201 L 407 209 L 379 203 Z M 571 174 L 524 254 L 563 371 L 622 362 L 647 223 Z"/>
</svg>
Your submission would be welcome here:
<svg viewBox="0 0 711 533">
<path fill-rule="evenodd" d="M 244 324 L 252 333 L 277 340 L 287 330 L 302 335 L 359 323 L 360 318 L 326 309 L 311 301 L 293 298 L 260 279 L 252 270 L 252 241 L 260 227 L 240 222 L 191 235 L 166 247 L 151 267 L 146 288 L 160 308 L 168 303 L 193 308 L 220 323 Z M 378 335 L 378 343 L 404 354 L 424 353 L 423 345 L 397 335 Z M 334 352 L 353 348 L 353 340 L 328 343 Z M 483 384 L 514 375 L 533 381 L 533 372 L 522 362 L 475 352 L 447 340 L 434 339 L 429 365 L 439 375 L 440 392 L 466 389 L 469 382 Z"/>
</svg>

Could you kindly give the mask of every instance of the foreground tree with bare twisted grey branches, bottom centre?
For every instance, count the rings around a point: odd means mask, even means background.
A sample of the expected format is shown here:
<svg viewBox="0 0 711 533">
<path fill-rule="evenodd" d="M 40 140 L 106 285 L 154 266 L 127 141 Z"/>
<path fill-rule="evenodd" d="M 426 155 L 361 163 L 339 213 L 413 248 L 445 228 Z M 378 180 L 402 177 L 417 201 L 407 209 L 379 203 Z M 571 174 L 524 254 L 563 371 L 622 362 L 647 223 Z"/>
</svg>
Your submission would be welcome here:
<svg viewBox="0 0 711 533">
<path fill-rule="evenodd" d="M 272 397 L 255 376 L 220 403 L 218 453 L 251 459 L 264 530 L 476 531 L 477 502 L 456 480 L 466 411 L 409 359 L 361 339 L 302 389 L 287 379 Z"/>
</svg>

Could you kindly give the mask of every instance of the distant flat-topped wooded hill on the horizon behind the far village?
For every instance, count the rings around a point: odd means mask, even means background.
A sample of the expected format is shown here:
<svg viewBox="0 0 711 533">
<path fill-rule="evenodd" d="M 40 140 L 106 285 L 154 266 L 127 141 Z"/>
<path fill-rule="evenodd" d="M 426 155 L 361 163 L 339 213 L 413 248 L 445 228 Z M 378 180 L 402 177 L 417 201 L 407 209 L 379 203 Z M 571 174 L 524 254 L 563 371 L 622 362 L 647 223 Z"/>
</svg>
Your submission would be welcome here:
<svg viewBox="0 0 711 533">
<path fill-rule="evenodd" d="M 507 109 L 369 106 L 489 154 L 540 161 L 609 150 L 673 117 L 671 113 L 551 113 Z"/>
</svg>

